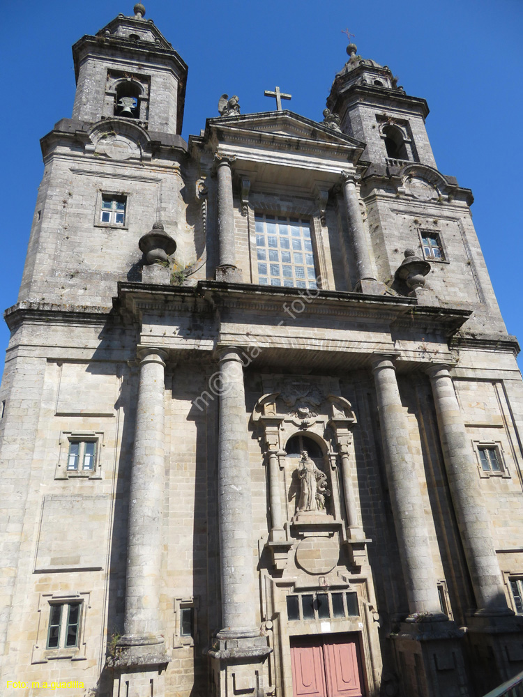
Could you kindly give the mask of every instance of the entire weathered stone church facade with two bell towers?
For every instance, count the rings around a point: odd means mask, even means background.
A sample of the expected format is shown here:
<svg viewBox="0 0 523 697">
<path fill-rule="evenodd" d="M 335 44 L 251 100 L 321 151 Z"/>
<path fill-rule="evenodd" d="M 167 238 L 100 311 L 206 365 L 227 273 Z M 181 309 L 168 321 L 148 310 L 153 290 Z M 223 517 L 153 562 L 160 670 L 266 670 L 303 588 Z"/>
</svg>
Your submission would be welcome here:
<svg viewBox="0 0 523 697">
<path fill-rule="evenodd" d="M 323 120 L 225 94 L 185 143 L 144 6 L 73 47 L 5 314 L 6 694 L 480 697 L 523 669 L 519 347 L 427 103 L 347 53 Z"/>
</svg>

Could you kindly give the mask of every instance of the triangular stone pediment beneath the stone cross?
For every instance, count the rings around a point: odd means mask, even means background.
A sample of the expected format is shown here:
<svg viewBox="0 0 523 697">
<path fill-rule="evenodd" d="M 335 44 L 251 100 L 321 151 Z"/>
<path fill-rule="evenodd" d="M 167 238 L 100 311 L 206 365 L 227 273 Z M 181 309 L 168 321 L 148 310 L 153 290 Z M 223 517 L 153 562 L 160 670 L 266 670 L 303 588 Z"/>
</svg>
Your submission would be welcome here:
<svg viewBox="0 0 523 697">
<path fill-rule="evenodd" d="M 229 139 L 252 140 L 261 144 L 263 141 L 281 144 L 289 141 L 303 146 L 339 148 L 363 152 L 365 144 L 344 133 L 328 128 L 324 123 L 294 114 L 294 112 L 258 112 L 238 116 L 219 116 L 207 121 L 205 138 L 227 141 Z"/>
</svg>

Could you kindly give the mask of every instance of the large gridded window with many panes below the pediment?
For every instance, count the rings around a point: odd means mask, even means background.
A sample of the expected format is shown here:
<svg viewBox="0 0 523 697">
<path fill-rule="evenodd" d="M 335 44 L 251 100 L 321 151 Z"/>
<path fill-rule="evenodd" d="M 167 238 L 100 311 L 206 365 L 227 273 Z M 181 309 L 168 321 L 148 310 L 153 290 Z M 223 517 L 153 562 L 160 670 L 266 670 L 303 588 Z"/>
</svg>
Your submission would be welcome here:
<svg viewBox="0 0 523 697">
<path fill-rule="evenodd" d="M 295 217 L 256 215 L 255 225 L 259 283 L 316 288 L 310 222 Z"/>
</svg>

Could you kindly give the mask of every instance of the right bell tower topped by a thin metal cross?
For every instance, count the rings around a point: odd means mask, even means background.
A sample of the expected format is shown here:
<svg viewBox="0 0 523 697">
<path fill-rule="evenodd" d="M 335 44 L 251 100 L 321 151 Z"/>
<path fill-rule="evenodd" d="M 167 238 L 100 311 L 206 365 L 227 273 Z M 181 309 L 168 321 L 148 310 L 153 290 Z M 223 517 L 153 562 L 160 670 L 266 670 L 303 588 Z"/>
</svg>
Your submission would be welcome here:
<svg viewBox="0 0 523 697">
<path fill-rule="evenodd" d="M 427 102 L 407 95 L 388 66 L 363 59 L 357 50 L 354 43 L 347 46 L 349 60 L 336 74 L 327 99 L 343 132 L 367 144 L 363 159 L 373 164 L 436 167 L 425 130 Z"/>
</svg>

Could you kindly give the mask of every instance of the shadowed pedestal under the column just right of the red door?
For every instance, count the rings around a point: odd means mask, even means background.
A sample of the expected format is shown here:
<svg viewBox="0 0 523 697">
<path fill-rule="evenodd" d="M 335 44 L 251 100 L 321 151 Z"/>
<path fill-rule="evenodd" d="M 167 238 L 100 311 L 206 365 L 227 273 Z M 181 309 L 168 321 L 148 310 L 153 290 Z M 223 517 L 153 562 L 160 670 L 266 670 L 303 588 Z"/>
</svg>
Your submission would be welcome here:
<svg viewBox="0 0 523 697">
<path fill-rule="evenodd" d="M 411 615 L 394 641 L 397 674 L 405 694 L 416 697 L 469 697 L 463 655 L 464 631 L 446 615 Z"/>
</svg>

